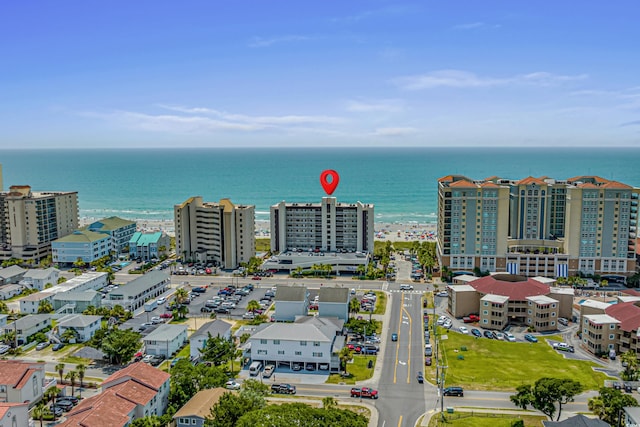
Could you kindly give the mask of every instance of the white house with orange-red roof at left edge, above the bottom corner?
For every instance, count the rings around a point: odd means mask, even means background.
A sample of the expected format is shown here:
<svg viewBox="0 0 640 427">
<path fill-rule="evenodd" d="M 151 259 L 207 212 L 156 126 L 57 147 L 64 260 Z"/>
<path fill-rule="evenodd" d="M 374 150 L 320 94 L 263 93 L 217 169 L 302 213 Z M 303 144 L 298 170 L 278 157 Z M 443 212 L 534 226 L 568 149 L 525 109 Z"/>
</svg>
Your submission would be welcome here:
<svg viewBox="0 0 640 427">
<path fill-rule="evenodd" d="M 28 403 L 42 399 L 44 363 L 0 360 L 0 402 Z"/>
</svg>

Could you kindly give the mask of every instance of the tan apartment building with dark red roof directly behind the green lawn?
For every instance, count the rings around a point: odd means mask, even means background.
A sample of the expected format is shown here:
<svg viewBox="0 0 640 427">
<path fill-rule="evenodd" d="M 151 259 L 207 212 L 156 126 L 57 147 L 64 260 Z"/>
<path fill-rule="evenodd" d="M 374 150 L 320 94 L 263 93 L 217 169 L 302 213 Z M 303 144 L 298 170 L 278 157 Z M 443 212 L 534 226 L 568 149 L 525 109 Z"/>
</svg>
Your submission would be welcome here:
<svg viewBox="0 0 640 427">
<path fill-rule="evenodd" d="M 571 318 L 573 289 L 556 288 L 513 274 L 494 274 L 447 287 L 448 310 L 455 317 L 477 314 L 480 326 L 502 330 L 509 324 L 558 329 L 558 318 Z"/>
</svg>

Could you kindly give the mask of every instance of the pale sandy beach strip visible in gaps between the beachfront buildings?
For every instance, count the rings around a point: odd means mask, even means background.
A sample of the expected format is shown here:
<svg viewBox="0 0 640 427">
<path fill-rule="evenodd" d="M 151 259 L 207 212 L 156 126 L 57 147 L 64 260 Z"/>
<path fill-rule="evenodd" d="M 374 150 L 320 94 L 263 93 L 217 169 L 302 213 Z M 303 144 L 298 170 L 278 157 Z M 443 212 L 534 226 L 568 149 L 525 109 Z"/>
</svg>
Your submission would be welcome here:
<svg viewBox="0 0 640 427">
<path fill-rule="evenodd" d="M 100 218 L 83 217 L 80 219 L 80 226 L 88 225 Z M 148 220 L 138 219 L 136 221 L 138 231 L 154 232 L 164 231 L 170 236 L 175 235 L 175 224 L 172 220 Z M 270 238 L 269 221 L 256 221 L 256 238 Z M 413 241 L 435 241 L 435 224 L 417 223 L 375 223 L 374 239 L 390 242 L 413 242 Z"/>
</svg>

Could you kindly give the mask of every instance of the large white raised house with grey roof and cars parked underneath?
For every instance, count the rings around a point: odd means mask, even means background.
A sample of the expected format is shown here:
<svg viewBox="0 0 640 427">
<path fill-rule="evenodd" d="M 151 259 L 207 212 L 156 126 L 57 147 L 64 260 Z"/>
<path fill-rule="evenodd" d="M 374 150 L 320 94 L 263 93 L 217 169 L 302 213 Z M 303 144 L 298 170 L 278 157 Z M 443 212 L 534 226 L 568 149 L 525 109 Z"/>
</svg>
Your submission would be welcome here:
<svg viewBox="0 0 640 427">
<path fill-rule="evenodd" d="M 340 319 L 319 316 L 300 317 L 295 323 L 263 323 L 249 338 L 251 360 L 338 371 L 343 325 Z"/>
</svg>

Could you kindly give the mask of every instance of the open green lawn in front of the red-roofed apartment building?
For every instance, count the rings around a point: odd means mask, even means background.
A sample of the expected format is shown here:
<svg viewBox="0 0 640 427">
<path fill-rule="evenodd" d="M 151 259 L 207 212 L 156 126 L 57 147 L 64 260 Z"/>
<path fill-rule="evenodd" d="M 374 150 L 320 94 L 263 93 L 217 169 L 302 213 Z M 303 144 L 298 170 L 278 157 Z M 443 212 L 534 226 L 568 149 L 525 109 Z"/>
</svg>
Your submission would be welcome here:
<svg viewBox="0 0 640 427">
<path fill-rule="evenodd" d="M 605 379 L 610 379 L 592 369 L 599 366 L 596 363 L 565 359 L 545 342 L 557 337 L 540 338 L 537 343 L 513 343 L 475 338 L 439 328 L 439 333 L 443 331 L 448 335 L 448 339 L 440 341 L 444 363 L 449 367 L 446 372 L 448 385 L 461 385 L 473 390 L 511 391 L 542 377 L 555 377 L 571 378 L 587 390 L 597 390 Z M 460 351 L 461 347 L 466 347 L 467 351 Z M 487 369 L 487 366 L 494 369 Z"/>
</svg>

